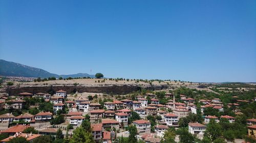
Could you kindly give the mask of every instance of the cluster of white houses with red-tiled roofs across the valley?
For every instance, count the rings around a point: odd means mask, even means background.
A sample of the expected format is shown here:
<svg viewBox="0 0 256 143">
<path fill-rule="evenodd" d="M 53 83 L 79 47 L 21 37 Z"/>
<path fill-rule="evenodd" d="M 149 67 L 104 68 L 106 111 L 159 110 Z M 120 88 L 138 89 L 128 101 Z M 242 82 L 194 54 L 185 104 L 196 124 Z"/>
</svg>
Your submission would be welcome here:
<svg viewBox="0 0 256 143">
<path fill-rule="evenodd" d="M 0 128 L 2 132 L 8 132 L 8 130 L 14 131 L 16 128 L 26 128 L 27 125 L 16 125 L 11 128 L 9 124 L 16 121 L 25 121 L 28 122 L 29 126 L 35 128 L 45 128 L 50 125 L 50 120 L 53 118 L 54 113 L 58 110 L 62 110 L 65 105 L 69 108 L 69 112 L 65 115 L 66 122 L 74 125 L 80 126 L 85 120 L 84 115 L 90 116 L 90 122 L 92 123 L 92 135 L 96 142 L 102 140 L 103 143 L 109 143 L 115 137 L 116 130 L 120 130 L 123 127 L 128 126 L 129 117 L 132 116 L 132 111 L 138 113 L 141 117 L 141 120 L 133 121 L 132 124 L 136 126 L 138 134 L 141 135 L 141 138 L 146 142 L 160 142 L 160 138 L 163 137 L 164 132 L 168 127 L 178 127 L 178 122 L 180 118 L 187 117 L 189 112 L 197 113 L 197 106 L 194 104 L 195 99 L 187 98 L 185 95 L 180 95 L 181 102 L 176 102 L 173 94 L 166 93 L 165 97 L 169 98 L 168 102 L 164 105 L 159 103 L 159 100 L 156 99 L 155 94 L 145 94 L 144 96 L 151 97 L 151 103 L 148 103 L 148 100 L 142 96 L 137 96 L 136 101 L 124 99 L 124 100 L 114 100 L 113 102 L 104 102 L 104 108 L 101 108 L 99 103 L 91 103 L 88 99 L 77 98 L 73 101 L 67 100 L 67 92 L 59 90 L 54 96 L 50 94 L 37 93 L 35 95 L 31 93 L 20 93 L 18 99 L 7 100 L 6 97 L 0 98 L 0 108 L 14 108 L 14 109 L 23 109 L 26 101 L 23 99 L 28 97 L 38 97 L 44 98 L 45 101 L 53 103 L 54 112 L 39 112 L 36 115 L 30 115 L 29 113 L 24 113 L 20 116 L 13 116 L 12 113 L 5 113 L 0 115 Z M 236 97 L 233 97 L 236 98 Z M 199 100 L 203 105 L 201 106 L 201 112 L 204 112 L 204 109 L 207 107 L 212 107 L 218 109 L 220 112 L 223 112 L 223 103 L 220 99 L 215 98 L 212 100 Z M 249 102 L 245 100 L 237 100 L 237 103 L 227 104 L 228 106 L 239 106 L 240 102 Z M 168 112 L 171 110 L 172 112 Z M 151 123 L 146 120 L 147 116 L 160 116 L 161 121 L 158 122 L 158 125 L 155 126 L 155 134 L 151 133 Z M 221 116 L 220 119 L 227 119 L 230 123 L 235 121 L 234 117 L 231 116 Z M 194 134 L 198 138 L 202 138 L 206 130 L 205 124 L 209 123 L 210 120 L 215 120 L 217 123 L 220 120 L 215 116 L 205 116 L 204 124 L 200 123 L 189 123 L 188 131 L 191 134 Z M 248 134 L 256 135 L 255 121 L 256 119 L 247 120 L 248 124 Z M 19 129 L 18 128 L 18 129 Z M 1 133 L 2 133 L 1 132 Z M 26 138 L 36 138 L 36 135 L 32 134 L 23 134 L 22 131 L 15 130 L 12 132 L 10 137 L 15 136 L 26 136 Z M 54 135 L 56 129 L 47 128 L 40 130 L 39 135 Z M 157 136 L 157 137 L 156 137 Z M 29 140 L 29 139 L 28 139 Z M 5 142 L 6 140 L 1 140 L 0 142 Z"/>
</svg>

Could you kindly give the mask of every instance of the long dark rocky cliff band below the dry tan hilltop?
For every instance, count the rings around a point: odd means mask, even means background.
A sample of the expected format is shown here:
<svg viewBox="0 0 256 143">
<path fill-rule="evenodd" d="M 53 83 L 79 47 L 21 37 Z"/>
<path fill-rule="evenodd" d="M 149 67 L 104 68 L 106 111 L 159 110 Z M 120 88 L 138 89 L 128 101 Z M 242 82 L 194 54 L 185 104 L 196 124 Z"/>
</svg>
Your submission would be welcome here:
<svg viewBox="0 0 256 143">
<path fill-rule="evenodd" d="M 0 93 L 7 93 L 9 96 L 17 95 L 22 92 L 29 92 L 29 93 L 48 93 L 49 91 L 58 91 L 64 90 L 67 91 L 68 94 L 77 91 L 78 93 L 83 92 L 90 92 L 90 93 L 106 93 L 106 94 L 127 94 L 133 91 L 138 91 L 140 89 L 146 90 L 163 90 L 167 89 L 167 85 L 93 85 L 93 86 L 86 86 L 86 85 L 31 85 L 31 86 L 20 86 L 15 85 L 11 87 L 5 87 L 0 90 Z"/>
</svg>

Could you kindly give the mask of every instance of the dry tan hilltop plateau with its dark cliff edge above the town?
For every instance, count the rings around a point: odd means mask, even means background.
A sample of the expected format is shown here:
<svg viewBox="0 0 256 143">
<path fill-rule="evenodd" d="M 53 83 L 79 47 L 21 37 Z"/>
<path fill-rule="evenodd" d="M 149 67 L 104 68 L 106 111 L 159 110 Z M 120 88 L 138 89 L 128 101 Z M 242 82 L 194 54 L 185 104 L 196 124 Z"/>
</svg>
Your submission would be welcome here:
<svg viewBox="0 0 256 143">
<path fill-rule="evenodd" d="M 2 94 L 17 95 L 20 92 L 48 93 L 49 91 L 65 90 L 68 93 L 105 93 L 105 94 L 127 94 L 140 89 L 167 90 L 179 87 L 198 88 L 201 83 L 185 81 L 163 81 L 163 80 L 137 80 L 137 79 L 108 79 L 108 78 L 82 78 L 82 79 L 61 79 L 48 81 L 19 82 L 11 81 L 8 85 L 5 81 L 0 92 Z M 203 89 L 207 90 L 207 89 Z"/>
</svg>

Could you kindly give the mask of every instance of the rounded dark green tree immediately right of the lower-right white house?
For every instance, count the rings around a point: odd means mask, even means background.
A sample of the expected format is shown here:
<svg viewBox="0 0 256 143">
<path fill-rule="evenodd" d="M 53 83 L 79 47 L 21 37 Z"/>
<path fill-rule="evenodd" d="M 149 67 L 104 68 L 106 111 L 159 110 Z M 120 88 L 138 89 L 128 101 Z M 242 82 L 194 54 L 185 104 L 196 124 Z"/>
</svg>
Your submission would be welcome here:
<svg viewBox="0 0 256 143">
<path fill-rule="evenodd" d="M 210 137 L 212 141 L 217 139 L 221 136 L 221 126 L 215 120 L 210 120 L 206 127 L 205 135 Z"/>
</svg>

